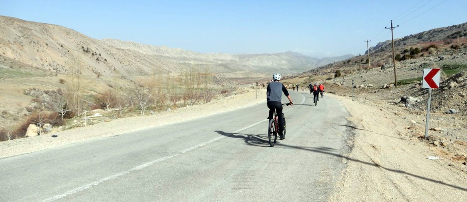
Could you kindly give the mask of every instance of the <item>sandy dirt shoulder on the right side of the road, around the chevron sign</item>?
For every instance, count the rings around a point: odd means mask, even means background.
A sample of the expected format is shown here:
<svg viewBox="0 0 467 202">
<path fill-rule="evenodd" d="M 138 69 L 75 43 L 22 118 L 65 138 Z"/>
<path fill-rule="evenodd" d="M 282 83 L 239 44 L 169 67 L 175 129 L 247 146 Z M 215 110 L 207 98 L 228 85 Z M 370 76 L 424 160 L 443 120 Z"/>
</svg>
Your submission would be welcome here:
<svg viewBox="0 0 467 202">
<path fill-rule="evenodd" d="M 407 132 L 410 119 L 377 104 L 328 96 L 342 101 L 355 132 L 353 149 L 343 159 L 347 167 L 329 201 L 467 201 L 467 166 L 443 156 L 427 159 L 440 154 L 416 137 L 420 134 Z M 465 157 L 466 146 L 461 147 L 458 155 Z"/>
</svg>

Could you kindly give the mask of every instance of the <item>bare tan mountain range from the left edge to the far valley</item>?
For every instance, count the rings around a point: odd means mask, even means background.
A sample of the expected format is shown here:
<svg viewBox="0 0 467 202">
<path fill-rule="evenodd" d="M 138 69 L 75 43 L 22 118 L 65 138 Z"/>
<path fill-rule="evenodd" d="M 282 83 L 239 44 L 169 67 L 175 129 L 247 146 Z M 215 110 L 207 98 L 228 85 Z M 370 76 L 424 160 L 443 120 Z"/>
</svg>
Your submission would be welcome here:
<svg viewBox="0 0 467 202">
<path fill-rule="evenodd" d="M 7 16 L 0 16 L 0 51 L 0 57 L 24 67 L 68 74 L 70 64 L 78 61 L 84 67 L 83 74 L 103 77 L 181 72 L 191 67 L 208 67 L 216 73 L 290 74 L 352 56 L 319 59 L 292 51 L 250 55 L 197 53 L 117 39 L 97 40 L 70 28 Z M 0 68 L 6 66 L 0 62 Z"/>
</svg>

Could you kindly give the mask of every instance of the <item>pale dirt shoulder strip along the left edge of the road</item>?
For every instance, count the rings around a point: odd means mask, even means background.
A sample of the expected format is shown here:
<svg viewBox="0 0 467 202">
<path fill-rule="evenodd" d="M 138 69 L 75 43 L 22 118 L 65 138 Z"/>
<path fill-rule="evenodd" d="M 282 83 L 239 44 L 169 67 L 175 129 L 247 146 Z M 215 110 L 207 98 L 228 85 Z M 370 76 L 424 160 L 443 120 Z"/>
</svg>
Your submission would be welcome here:
<svg viewBox="0 0 467 202">
<path fill-rule="evenodd" d="M 74 128 L 62 132 L 44 134 L 32 138 L 13 139 L 0 142 L 0 159 L 10 156 L 31 153 L 57 146 L 69 145 L 88 139 L 108 137 L 127 132 L 143 130 L 151 127 L 172 124 L 194 118 L 209 116 L 215 113 L 230 111 L 233 109 L 247 107 L 266 100 L 261 97 L 256 99 L 253 90 L 242 94 L 213 100 L 207 104 L 193 105 L 178 108 L 172 111 L 164 111 L 150 116 L 139 116 L 120 118 L 110 122 L 102 122 L 96 125 Z M 266 90 L 258 91 L 258 95 L 264 95 Z M 51 135 L 58 135 L 57 138 Z"/>
</svg>

